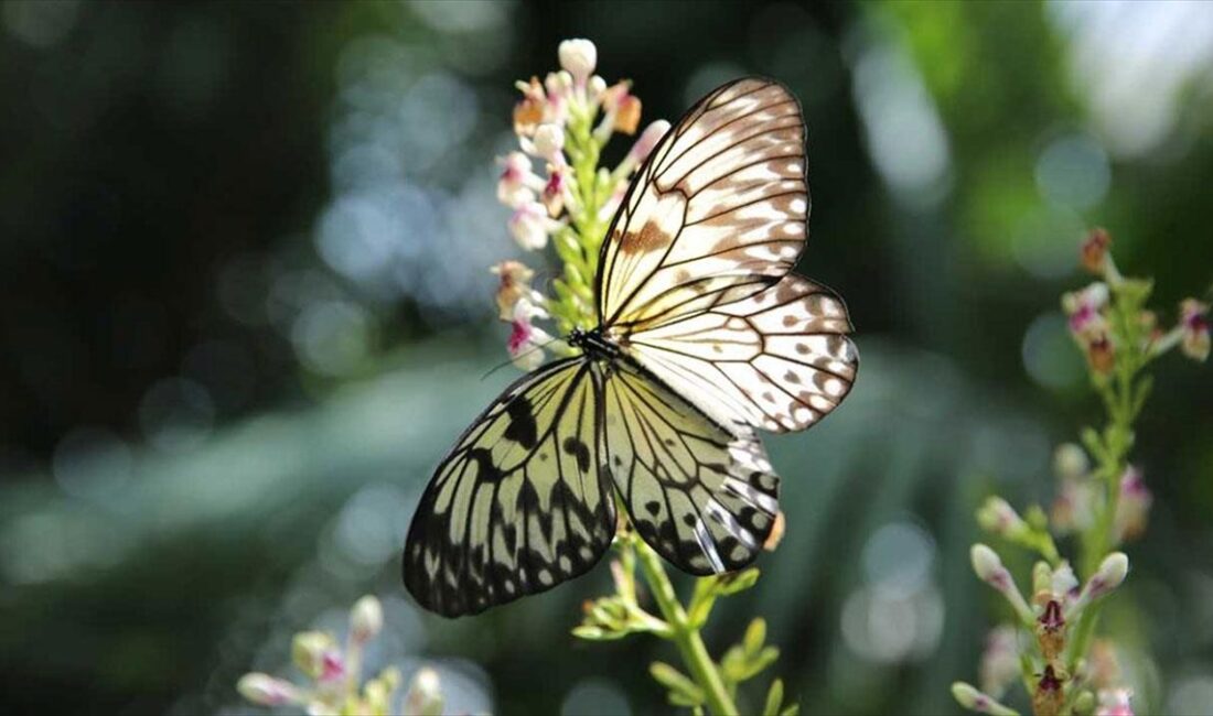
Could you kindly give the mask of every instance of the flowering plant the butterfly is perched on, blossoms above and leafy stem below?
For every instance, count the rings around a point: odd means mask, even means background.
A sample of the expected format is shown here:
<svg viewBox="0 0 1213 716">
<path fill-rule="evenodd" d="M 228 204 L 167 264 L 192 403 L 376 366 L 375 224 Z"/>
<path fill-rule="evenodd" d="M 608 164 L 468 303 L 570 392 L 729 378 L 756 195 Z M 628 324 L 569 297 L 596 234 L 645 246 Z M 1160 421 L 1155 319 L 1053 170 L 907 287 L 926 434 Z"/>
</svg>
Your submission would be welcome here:
<svg viewBox="0 0 1213 716">
<path fill-rule="evenodd" d="M 518 82 L 522 98 L 514 107 L 513 124 L 519 150 L 500 160 L 497 197 L 513 210 L 509 233 L 525 251 L 551 245 L 562 267 L 559 277 L 552 281 L 553 296 L 530 286 L 535 271 L 520 262 L 506 260 L 491 269 L 500 280 L 499 315 L 511 323 L 507 350 L 524 370 L 537 367 L 548 346 L 566 349 L 537 322 L 551 321 L 558 336 L 574 328 L 593 328 L 592 281 L 606 224 L 623 200 L 632 174 L 670 130 L 667 121 L 650 122 L 619 165 L 599 166 L 602 150 L 615 133 L 634 134 L 639 128 L 640 99 L 632 94 L 630 82 L 608 85 L 594 74 L 597 50 L 590 40 L 562 42 L 559 61 L 562 69 L 543 81 L 531 78 Z M 536 162 L 542 173 L 535 171 Z M 774 549 L 780 531 L 776 521 L 768 549 Z M 615 594 L 586 602 L 585 618 L 574 635 L 609 641 L 651 634 L 672 641 L 687 674 L 662 661 L 649 669 L 668 689 L 670 703 L 696 712 L 738 714 L 739 685 L 770 666 L 779 651 L 765 643 L 765 623 L 754 619 L 741 642 L 716 661 L 700 630 L 716 600 L 753 586 L 758 571 L 700 578 L 684 605 L 661 559 L 626 521 L 621 521 L 614 548 L 616 557 L 610 568 Z M 657 607 L 656 614 L 642 606 L 645 591 Z M 797 712 L 795 704 L 784 704 L 781 681 L 775 680 L 768 689 L 762 712 Z"/>
</svg>

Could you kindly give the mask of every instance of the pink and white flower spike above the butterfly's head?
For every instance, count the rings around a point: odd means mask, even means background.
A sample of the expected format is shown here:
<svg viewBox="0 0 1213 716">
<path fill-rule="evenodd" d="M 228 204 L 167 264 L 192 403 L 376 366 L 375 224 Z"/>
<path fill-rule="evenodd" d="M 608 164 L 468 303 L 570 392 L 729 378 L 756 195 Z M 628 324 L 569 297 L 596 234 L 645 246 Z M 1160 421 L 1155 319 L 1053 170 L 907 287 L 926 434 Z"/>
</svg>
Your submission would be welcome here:
<svg viewBox="0 0 1213 716">
<path fill-rule="evenodd" d="M 523 370 L 537 367 L 552 342 L 536 321 L 553 320 L 562 334 L 590 327 L 592 280 L 606 222 L 632 174 L 670 128 L 666 121 L 650 124 L 615 168 L 599 167 L 600 153 L 615 133 L 634 134 L 639 128 L 640 99 L 632 94 L 631 82 L 608 85 L 594 74 L 598 50 L 590 40 L 565 40 L 557 56 L 559 70 L 542 81 L 517 82 L 518 150 L 497 160 L 497 199 L 512 212 L 509 234 L 524 251 L 551 245 L 562 264 L 551 297 L 530 287 L 534 271 L 523 263 L 492 268 L 500 279 L 497 315 L 511 323 L 506 348 Z"/>
</svg>

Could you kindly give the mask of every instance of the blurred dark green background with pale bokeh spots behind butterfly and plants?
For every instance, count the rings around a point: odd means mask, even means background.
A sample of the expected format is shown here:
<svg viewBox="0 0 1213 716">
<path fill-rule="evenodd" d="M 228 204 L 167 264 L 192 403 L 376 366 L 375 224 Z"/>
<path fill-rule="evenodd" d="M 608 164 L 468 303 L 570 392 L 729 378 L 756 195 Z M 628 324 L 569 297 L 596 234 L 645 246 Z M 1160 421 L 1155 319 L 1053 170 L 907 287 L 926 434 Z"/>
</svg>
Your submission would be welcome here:
<svg viewBox="0 0 1213 716">
<path fill-rule="evenodd" d="M 1047 503 L 1100 414 L 1059 310 L 1084 229 L 1168 321 L 1213 279 L 1213 5 L 5 2 L 5 710 L 252 711 L 239 675 L 289 672 L 364 592 L 372 665 L 437 663 L 452 712 L 668 710 L 667 645 L 569 635 L 605 567 L 457 622 L 399 584 L 429 471 L 512 379 L 480 378 L 486 267 L 517 253 L 492 157 L 570 36 L 650 120 L 750 73 L 798 94 L 801 269 L 859 330 L 847 405 L 769 440 L 787 537 L 710 646 L 761 613 L 805 714 L 956 710 L 1004 607 L 973 510 Z M 1156 503 L 1105 624 L 1139 712 L 1209 714 L 1213 384 L 1158 370 Z"/>
</svg>

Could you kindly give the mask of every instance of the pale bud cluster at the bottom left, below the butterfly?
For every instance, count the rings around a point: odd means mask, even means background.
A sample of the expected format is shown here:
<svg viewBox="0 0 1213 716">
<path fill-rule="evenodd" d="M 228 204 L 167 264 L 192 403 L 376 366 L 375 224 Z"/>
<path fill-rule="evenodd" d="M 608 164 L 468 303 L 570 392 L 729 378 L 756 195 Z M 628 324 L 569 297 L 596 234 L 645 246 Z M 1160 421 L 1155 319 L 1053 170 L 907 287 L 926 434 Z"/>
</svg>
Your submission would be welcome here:
<svg viewBox="0 0 1213 716">
<path fill-rule="evenodd" d="M 296 685 L 268 674 L 245 674 L 237 691 L 261 706 L 298 706 L 309 716 L 337 714 L 416 714 L 439 716 L 443 697 L 438 674 L 420 669 L 403 698 L 400 670 L 388 666 L 378 676 L 361 683 L 361 660 L 366 645 L 383 629 L 383 607 L 374 596 L 364 596 L 349 612 L 349 630 L 344 643 L 325 631 L 303 631 L 291 641 L 291 661 L 308 677 Z"/>
</svg>

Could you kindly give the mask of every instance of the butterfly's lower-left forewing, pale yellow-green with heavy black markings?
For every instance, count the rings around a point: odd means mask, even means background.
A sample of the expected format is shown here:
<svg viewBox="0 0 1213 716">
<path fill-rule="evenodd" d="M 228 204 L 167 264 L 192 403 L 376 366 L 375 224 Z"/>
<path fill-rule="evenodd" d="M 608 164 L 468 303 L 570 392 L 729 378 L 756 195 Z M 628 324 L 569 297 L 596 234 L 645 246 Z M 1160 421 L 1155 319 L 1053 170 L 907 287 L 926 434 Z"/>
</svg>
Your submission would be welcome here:
<svg viewBox="0 0 1213 716">
<path fill-rule="evenodd" d="M 438 465 L 404 550 L 404 583 L 446 617 L 474 614 L 582 574 L 615 534 L 603 479 L 602 376 L 554 361 L 480 414 Z"/>
</svg>

